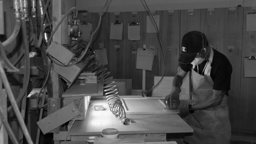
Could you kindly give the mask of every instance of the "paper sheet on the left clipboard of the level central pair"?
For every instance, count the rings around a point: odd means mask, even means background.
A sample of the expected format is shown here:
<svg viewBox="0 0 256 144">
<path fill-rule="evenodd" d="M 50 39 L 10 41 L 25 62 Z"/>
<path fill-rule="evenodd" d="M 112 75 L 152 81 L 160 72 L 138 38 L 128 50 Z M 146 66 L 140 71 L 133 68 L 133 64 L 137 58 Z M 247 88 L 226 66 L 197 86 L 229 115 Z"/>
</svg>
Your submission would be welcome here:
<svg viewBox="0 0 256 144">
<path fill-rule="evenodd" d="M 123 35 L 123 23 L 116 24 L 111 23 L 110 39 L 122 40 Z"/>
</svg>

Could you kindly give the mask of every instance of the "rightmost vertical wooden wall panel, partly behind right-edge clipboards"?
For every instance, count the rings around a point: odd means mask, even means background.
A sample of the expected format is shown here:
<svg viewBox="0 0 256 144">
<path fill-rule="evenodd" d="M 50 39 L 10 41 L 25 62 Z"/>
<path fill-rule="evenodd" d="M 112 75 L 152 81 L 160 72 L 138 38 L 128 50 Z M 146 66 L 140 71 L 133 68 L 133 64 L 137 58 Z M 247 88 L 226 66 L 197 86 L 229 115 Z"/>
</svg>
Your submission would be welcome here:
<svg viewBox="0 0 256 144">
<path fill-rule="evenodd" d="M 251 7 L 244 8 L 243 45 L 241 65 L 241 97 L 240 97 L 240 129 L 256 130 L 256 78 L 244 77 L 244 57 L 256 55 L 256 31 L 246 31 L 246 12 L 253 11 Z"/>
</svg>

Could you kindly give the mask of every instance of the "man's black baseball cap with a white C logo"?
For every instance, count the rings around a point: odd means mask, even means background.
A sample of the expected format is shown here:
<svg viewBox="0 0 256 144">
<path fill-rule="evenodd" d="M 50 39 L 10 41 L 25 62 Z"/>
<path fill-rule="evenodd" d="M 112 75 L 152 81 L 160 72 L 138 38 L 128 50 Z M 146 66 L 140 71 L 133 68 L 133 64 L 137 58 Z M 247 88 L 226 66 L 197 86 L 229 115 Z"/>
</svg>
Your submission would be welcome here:
<svg viewBox="0 0 256 144">
<path fill-rule="evenodd" d="M 204 33 L 199 31 L 190 31 L 186 33 L 181 42 L 181 53 L 179 63 L 190 64 L 201 49 L 208 45 L 208 40 Z"/>
</svg>

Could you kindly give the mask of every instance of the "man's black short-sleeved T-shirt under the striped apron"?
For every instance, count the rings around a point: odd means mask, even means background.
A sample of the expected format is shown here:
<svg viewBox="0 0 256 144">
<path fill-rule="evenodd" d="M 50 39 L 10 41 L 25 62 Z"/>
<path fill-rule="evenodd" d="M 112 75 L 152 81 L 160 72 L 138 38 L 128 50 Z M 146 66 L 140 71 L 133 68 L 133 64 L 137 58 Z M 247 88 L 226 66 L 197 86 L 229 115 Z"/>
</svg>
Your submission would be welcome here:
<svg viewBox="0 0 256 144">
<path fill-rule="evenodd" d="M 213 81 L 213 89 L 214 90 L 222 90 L 228 91 L 230 90 L 230 80 L 231 80 L 231 73 L 232 73 L 232 66 L 228 60 L 228 58 L 218 52 L 217 50 L 213 49 L 214 55 L 212 59 L 212 68 L 210 72 L 210 77 Z M 204 61 L 200 65 L 198 65 L 199 74 L 202 74 L 204 66 L 207 61 Z M 180 67 L 183 71 L 189 72 L 193 67 L 192 64 L 181 64 Z M 197 72 L 197 66 L 194 69 Z M 204 75 L 204 73 L 202 74 Z"/>
</svg>

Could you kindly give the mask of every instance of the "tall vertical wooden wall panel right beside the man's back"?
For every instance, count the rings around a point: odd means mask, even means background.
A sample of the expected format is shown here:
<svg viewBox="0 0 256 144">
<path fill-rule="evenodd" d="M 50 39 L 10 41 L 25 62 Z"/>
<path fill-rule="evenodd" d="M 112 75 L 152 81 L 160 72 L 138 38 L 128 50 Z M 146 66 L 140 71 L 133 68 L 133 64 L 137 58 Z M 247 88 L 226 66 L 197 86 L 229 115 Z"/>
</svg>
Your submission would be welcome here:
<svg viewBox="0 0 256 144">
<path fill-rule="evenodd" d="M 229 117 L 232 128 L 239 128 L 240 119 L 242 34 L 243 8 L 238 7 L 234 13 L 231 13 L 229 8 L 222 8 L 220 52 L 229 59 L 233 69 L 230 91 L 228 92 Z M 234 46 L 234 49 L 230 51 L 228 46 Z"/>
</svg>

